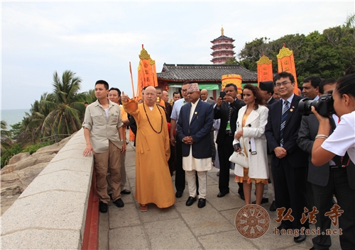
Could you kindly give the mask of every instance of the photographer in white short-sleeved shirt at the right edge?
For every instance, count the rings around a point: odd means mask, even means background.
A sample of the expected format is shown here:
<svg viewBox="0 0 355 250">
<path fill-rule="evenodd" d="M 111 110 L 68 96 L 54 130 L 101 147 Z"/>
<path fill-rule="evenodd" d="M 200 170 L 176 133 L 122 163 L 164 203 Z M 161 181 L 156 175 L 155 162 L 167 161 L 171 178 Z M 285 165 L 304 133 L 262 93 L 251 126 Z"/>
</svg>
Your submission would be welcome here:
<svg viewBox="0 0 355 250">
<path fill-rule="evenodd" d="M 355 249 L 355 74 L 337 80 L 333 98 L 340 122 L 332 135 L 329 135 L 332 130 L 329 118 L 312 107 L 312 113 L 320 123 L 312 147 L 312 164 L 321 166 L 330 160 L 337 164 L 337 172 L 333 171 L 333 180 L 329 181 L 342 186 L 342 191 L 334 190 L 340 209 L 344 210 L 339 217 L 339 228 L 343 232 L 339 236 L 340 246 L 342 249 Z M 337 159 L 337 155 L 344 157 Z"/>
</svg>

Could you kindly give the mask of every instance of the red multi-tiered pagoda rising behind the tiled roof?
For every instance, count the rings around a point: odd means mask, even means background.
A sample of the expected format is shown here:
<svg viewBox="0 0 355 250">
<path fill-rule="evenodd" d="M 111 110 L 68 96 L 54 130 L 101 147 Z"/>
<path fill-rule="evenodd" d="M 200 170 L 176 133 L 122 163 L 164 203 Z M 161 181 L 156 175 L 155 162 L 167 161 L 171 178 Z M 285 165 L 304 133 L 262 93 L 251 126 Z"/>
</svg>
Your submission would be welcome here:
<svg viewBox="0 0 355 250">
<path fill-rule="evenodd" d="M 224 64 L 227 59 L 234 57 L 235 52 L 233 51 L 235 41 L 233 38 L 227 38 L 224 35 L 223 28 L 221 29 L 222 35 L 219 38 L 214 39 L 212 42 L 211 49 L 212 52 L 212 60 L 213 64 Z"/>
</svg>

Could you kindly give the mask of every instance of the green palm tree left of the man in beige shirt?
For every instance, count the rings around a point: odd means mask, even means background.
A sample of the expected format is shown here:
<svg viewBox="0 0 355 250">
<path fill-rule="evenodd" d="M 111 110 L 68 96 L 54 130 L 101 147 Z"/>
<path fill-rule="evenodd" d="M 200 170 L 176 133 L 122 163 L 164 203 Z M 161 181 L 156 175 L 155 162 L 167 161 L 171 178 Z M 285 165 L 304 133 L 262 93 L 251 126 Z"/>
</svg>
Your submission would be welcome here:
<svg viewBox="0 0 355 250">
<path fill-rule="evenodd" d="M 81 82 L 70 70 L 65 71 L 61 79 L 57 72 L 53 74 L 53 100 L 40 100 L 44 108 L 51 110 L 43 121 L 43 133 L 72 134 L 80 130 L 80 115 L 85 110 L 84 103 L 80 102 L 82 93 L 78 93 Z"/>
</svg>

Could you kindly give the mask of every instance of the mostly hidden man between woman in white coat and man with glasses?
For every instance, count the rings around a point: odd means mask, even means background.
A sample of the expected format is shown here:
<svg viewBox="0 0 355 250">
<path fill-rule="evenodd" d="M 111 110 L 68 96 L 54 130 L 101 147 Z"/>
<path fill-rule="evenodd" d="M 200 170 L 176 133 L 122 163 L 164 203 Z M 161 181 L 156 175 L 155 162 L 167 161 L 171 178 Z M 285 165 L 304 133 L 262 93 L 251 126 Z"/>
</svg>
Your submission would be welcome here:
<svg viewBox="0 0 355 250">
<path fill-rule="evenodd" d="M 259 88 L 261 89 L 261 93 L 263 93 L 263 99 L 266 103 L 266 106 L 270 106 L 271 104 L 277 102 L 275 98 L 273 98 L 273 81 L 261 81 L 259 83 Z M 268 153 L 268 174 L 271 179 L 271 183 L 273 185 L 273 174 L 271 173 L 271 152 L 267 148 Z M 268 203 L 268 184 L 264 185 L 264 193 L 263 199 L 261 200 L 261 204 Z M 256 204 L 256 201 L 253 201 L 253 204 Z M 273 203 L 271 203 L 270 211 L 276 211 L 276 203 L 275 203 L 275 187 L 273 186 Z"/>
</svg>

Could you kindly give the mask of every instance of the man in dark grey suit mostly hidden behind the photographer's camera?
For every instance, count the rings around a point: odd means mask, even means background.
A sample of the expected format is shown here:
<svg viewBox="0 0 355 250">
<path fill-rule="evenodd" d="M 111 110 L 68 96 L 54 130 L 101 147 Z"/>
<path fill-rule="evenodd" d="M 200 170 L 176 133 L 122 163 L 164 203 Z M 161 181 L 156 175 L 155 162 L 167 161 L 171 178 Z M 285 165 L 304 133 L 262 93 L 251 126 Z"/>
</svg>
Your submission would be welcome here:
<svg viewBox="0 0 355 250">
<path fill-rule="evenodd" d="M 317 89 L 320 95 L 324 93 L 332 93 L 336 86 L 336 79 L 324 79 L 320 82 Z M 311 88 L 308 88 L 311 89 Z M 315 100 L 316 98 L 307 91 L 307 97 Z M 305 95 L 306 96 L 306 95 Z M 319 96 L 317 96 L 319 99 Z M 334 125 L 338 123 L 337 115 L 332 115 Z M 298 132 L 297 144 L 305 152 L 310 154 L 308 159 L 308 174 L 307 174 L 307 209 L 312 211 L 313 206 L 319 211 L 316 215 L 317 222 L 315 227 L 320 228 L 320 235 L 312 239 L 314 249 L 329 249 L 332 245 L 330 235 L 325 232 L 330 228 L 331 221 L 324 214 L 332 208 L 333 194 L 344 191 L 343 183 L 339 183 L 338 175 L 342 174 L 339 168 L 335 166 L 334 161 L 328 161 L 322 166 L 312 164 L 312 146 L 315 142 L 315 137 L 318 133 L 318 122 L 315 115 L 302 116 L 300 131 Z M 310 188 L 308 187 L 310 185 Z M 345 192 L 349 190 L 349 185 L 345 188 Z M 310 191 L 310 192 L 309 192 Z M 322 235 L 322 232 L 324 234 Z"/>
</svg>

